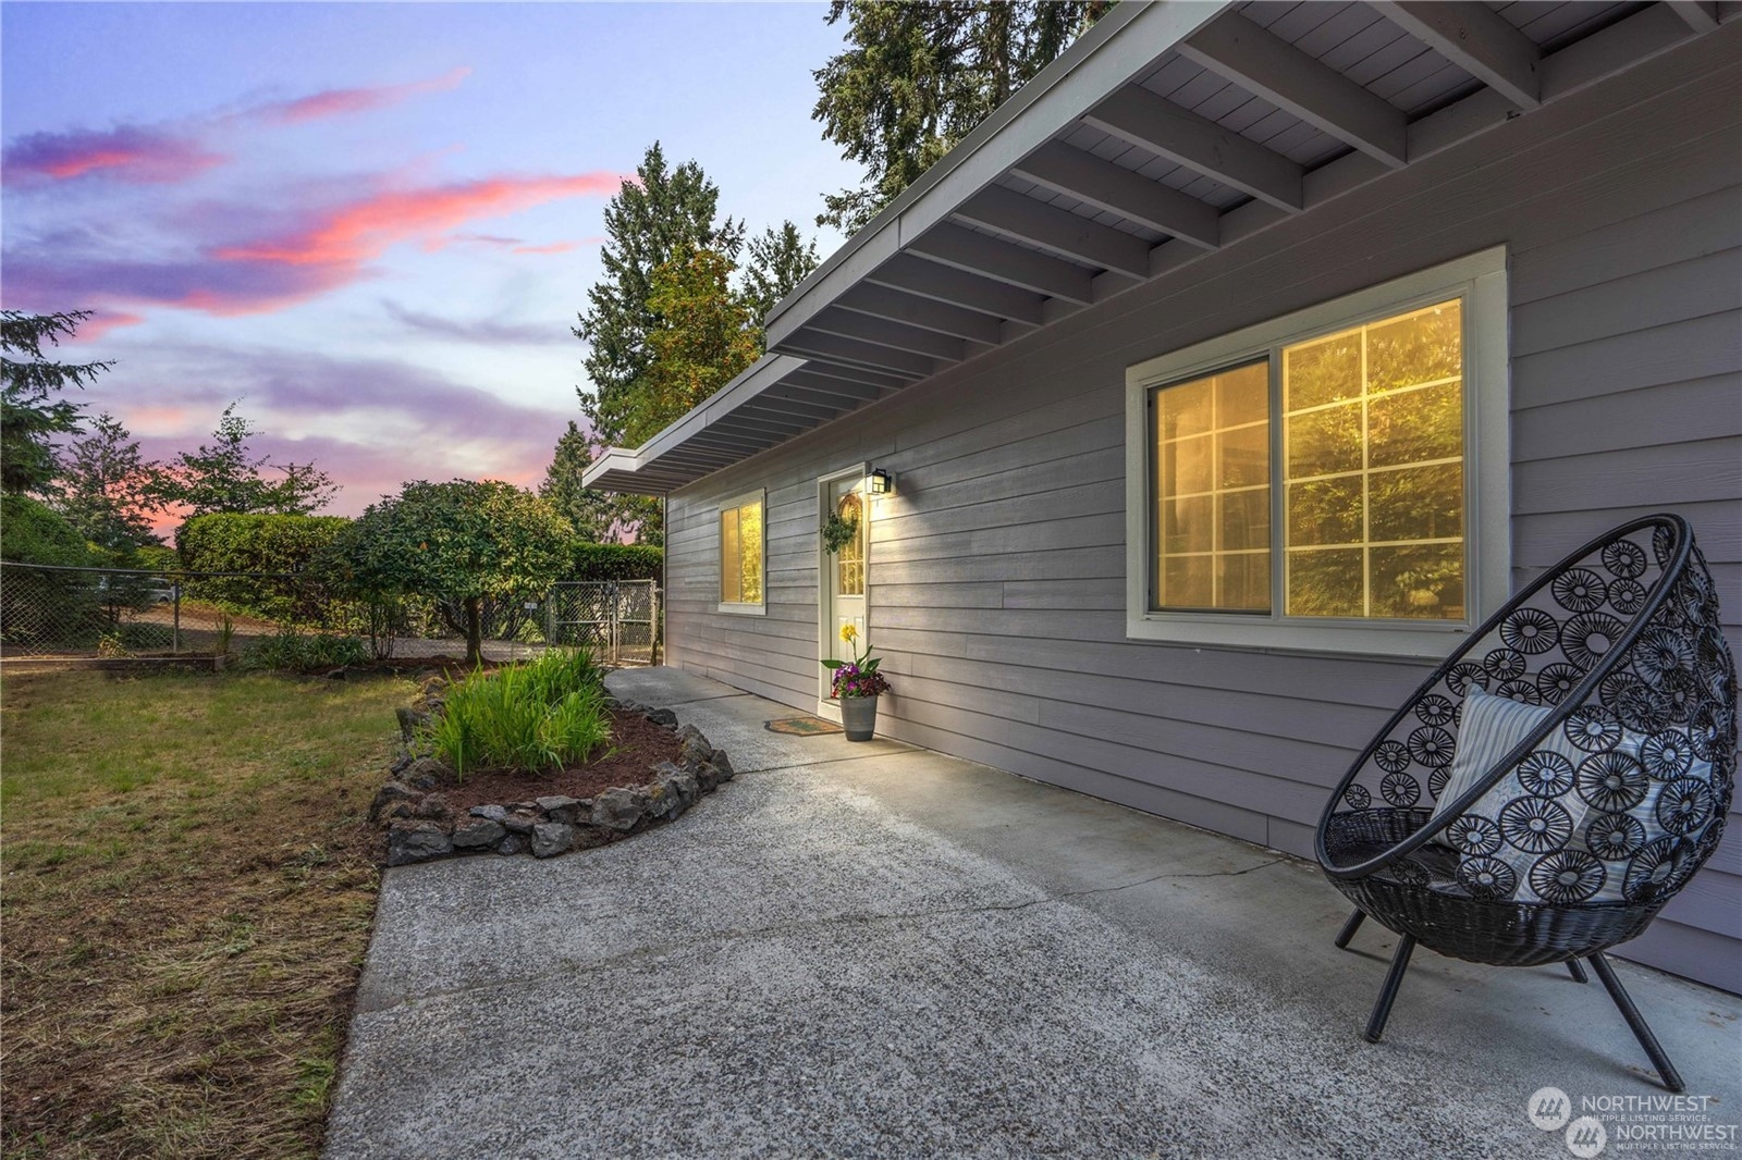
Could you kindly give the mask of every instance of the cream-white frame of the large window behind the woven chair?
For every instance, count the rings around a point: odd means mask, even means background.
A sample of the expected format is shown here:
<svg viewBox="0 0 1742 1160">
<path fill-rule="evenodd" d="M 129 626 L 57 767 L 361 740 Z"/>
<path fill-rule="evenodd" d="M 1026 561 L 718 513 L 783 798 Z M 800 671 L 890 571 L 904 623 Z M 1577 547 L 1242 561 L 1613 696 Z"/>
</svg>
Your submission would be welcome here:
<svg viewBox="0 0 1742 1160">
<path fill-rule="evenodd" d="M 1270 350 L 1402 314 L 1463 300 L 1465 577 L 1470 620 L 1367 620 L 1270 613 L 1157 611 L 1150 608 L 1155 559 L 1148 399 L 1155 387 L 1265 359 Z M 1272 366 L 1272 448 L 1280 437 Z M 1510 589 L 1512 448 L 1507 357 L 1507 253 L 1484 249 L 1334 301 L 1174 350 L 1125 371 L 1125 636 L 1176 644 L 1265 651 L 1355 653 L 1441 660 L 1498 610 Z M 1275 449 L 1272 451 L 1275 462 Z M 1272 472 L 1272 512 L 1280 479 Z M 1272 516 L 1272 561 L 1282 526 Z"/>
</svg>

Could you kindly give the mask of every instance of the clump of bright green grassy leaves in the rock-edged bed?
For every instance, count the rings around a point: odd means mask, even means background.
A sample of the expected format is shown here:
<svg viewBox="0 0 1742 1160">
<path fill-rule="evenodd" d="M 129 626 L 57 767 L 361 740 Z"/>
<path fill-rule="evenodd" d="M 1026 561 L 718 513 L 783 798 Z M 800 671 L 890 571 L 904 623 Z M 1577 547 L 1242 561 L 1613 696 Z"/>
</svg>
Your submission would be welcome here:
<svg viewBox="0 0 1742 1160">
<path fill-rule="evenodd" d="M 610 744 L 604 697 L 604 671 L 585 650 L 554 648 L 448 690 L 430 744 L 462 779 L 469 770 L 561 770 Z"/>
</svg>

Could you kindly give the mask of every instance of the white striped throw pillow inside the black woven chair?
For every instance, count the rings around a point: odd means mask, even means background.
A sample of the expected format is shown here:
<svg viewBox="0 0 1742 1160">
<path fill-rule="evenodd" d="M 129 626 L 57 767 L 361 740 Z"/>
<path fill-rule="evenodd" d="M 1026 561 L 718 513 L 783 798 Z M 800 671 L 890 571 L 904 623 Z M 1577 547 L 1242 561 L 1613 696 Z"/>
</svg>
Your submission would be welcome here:
<svg viewBox="0 0 1742 1160">
<path fill-rule="evenodd" d="M 1554 712 L 1472 688 L 1428 824 L 1458 881 L 1514 902 L 1618 902 L 1679 864 L 1712 817 L 1711 763 L 1686 730 L 1636 733 L 1578 711 L 1456 819 L 1446 808 Z"/>
</svg>

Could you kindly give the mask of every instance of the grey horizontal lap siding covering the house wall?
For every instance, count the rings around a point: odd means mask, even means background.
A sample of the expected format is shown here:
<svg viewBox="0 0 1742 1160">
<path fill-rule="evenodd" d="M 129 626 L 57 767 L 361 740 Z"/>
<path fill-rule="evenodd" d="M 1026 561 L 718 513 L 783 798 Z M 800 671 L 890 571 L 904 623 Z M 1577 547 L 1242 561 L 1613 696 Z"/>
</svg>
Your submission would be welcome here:
<svg viewBox="0 0 1742 1160">
<path fill-rule="evenodd" d="M 1678 510 L 1742 646 L 1739 61 L 1726 28 L 674 495 L 672 664 L 814 711 L 817 477 L 874 462 L 883 732 L 1310 855 L 1427 667 L 1125 639 L 1125 368 L 1502 244 L 1516 582 Z M 721 615 L 716 512 L 758 486 L 768 615 Z M 1629 951 L 1742 989 L 1742 826 Z"/>
</svg>

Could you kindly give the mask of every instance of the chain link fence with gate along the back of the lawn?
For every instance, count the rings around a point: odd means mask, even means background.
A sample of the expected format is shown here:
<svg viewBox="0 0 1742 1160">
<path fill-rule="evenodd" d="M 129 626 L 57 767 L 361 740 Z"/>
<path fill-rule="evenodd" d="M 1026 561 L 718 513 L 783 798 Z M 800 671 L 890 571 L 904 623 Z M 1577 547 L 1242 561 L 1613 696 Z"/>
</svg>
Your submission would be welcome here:
<svg viewBox="0 0 1742 1160">
<path fill-rule="evenodd" d="M 653 664 L 652 580 L 559 583 L 486 599 L 484 657 L 519 660 L 549 644 L 587 646 L 606 664 Z M 272 651 L 275 650 L 275 651 Z M 0 563 L 0 660 L 242 657 L 354 664 L 465 655 L 456 601 L 341 599 L 296 573 L 195 573 Z"/>
</svg>

